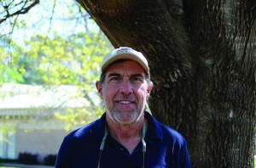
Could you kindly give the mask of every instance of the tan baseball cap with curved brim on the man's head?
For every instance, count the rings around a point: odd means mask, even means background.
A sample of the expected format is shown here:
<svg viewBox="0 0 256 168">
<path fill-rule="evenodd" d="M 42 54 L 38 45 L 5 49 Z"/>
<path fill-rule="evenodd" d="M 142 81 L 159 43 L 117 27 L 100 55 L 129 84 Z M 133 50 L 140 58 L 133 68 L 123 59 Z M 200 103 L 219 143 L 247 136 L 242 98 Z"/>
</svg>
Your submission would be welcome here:
<svg viewBox="0 0 256 168">
<path fill-rule="evenodd" d="M 102 64 L 101 64 L 102 72 L 107 70 L 110 64 L 112 64 L 114 61 L 119 59 L 132 59 L 137 61 L 137 63 L 141 64 L 143 69 L 149 75 L 148 61 L 143 56 L 143 53 L 137 52 L 136 50 L 132 48 L 127 48 L 127 47 L 116 48 L 113 51 L 107 53 L 107 55 L 102 60 Z"/>
</svg>

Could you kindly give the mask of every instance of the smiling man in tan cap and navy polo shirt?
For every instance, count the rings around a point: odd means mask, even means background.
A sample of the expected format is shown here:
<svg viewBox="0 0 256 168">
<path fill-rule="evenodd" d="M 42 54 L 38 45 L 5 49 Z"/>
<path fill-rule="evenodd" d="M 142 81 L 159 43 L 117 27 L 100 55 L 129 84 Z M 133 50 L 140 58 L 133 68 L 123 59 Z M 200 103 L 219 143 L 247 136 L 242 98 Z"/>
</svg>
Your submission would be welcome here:
<svg viewBox="0 0 256 168">
<path fill-rule="evenodd" d="M 101 73 L 106 113 L 64 138 L 55 168 L 191 167 L 183 137 L 144 110 L 153 83 L 143 54 L 114 49 Z"/>
</svg>

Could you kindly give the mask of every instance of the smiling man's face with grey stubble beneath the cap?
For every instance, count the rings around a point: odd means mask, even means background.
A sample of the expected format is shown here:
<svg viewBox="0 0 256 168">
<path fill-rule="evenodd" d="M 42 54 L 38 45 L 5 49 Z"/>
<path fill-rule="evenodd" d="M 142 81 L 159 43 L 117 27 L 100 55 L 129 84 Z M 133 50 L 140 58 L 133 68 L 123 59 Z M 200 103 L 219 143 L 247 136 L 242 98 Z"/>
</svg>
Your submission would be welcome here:
<svg viewBox="0 0 256 168">
<path fill-rule="evenodd" d="M 143 116 L 152 85 L 148 86 L 143 67 L 133 60 L 110 65 L 103 85 L 96 83 L 107 115 L 122 125 L 131 125 Z"/>
</svg>

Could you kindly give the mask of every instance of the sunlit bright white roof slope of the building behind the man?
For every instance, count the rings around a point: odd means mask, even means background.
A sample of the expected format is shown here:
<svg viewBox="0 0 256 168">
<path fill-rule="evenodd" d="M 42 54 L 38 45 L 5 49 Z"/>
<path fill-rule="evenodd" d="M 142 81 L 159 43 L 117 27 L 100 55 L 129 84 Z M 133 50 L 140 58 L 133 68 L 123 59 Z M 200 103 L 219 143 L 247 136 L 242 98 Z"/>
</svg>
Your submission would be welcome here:
<svg viewBox="0 0 256 168">
<path fill-rule="evenodd" d="M 90 93 L 94 101 L 96 93 Z M 75 86 L 32 86 L 14 83 L 0 85 L 1 109 L 47 109 L 47 108 L 86 108 L 90 101 L 84 98 L 79 87 Z"/>
</svg>

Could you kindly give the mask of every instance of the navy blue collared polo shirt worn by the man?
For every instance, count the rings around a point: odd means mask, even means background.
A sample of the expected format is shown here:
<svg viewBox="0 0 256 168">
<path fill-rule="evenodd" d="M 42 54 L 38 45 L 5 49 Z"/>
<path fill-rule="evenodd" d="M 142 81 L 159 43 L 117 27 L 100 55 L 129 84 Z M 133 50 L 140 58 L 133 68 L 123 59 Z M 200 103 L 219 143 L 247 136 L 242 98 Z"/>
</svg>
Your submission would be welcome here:
<svg viewBox="0 0 256 168">
<path fill-rule="evenodd" d="M 148 130 L 144 153 L 144 168 L 190 168 L 189 153 L 183 137 L 172 128 L 161 124 L 145 111 Z M 94 122 L 71 132 L 64 138 L 57 155 L 55 168 L 142 168 L 143 144 L 132 154 L 108 134 L 100 158 L 106 114 Z"/>
</svg>

